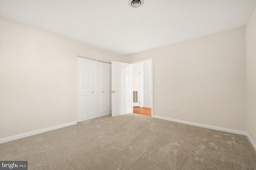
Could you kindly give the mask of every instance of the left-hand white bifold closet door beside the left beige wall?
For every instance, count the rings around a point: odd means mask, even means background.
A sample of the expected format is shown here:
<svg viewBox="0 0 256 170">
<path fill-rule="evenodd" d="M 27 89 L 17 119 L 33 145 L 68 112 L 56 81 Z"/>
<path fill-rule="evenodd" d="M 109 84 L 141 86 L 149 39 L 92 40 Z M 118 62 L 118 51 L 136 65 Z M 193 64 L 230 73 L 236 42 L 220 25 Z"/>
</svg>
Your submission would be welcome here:
<svg viewBox="0 0 256 170">
<path fill-rule="evenodd" d="M 77 121 L 98 117 L 98 61 L 77 57 Z"/>
</svg>

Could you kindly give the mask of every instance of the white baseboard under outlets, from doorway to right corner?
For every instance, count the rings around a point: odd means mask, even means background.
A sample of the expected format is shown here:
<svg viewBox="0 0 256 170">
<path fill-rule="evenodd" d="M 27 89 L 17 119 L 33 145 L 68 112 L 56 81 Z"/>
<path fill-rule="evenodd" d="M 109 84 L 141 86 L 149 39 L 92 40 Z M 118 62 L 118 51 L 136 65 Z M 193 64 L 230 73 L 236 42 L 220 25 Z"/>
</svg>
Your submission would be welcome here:
<svg viewBox="0 0 256 170">
<path fill-rule="evenodd" d="M 239 131 L 239 130 L 232 130 L 232 129 L 228 129 L 228 128 L 214 127 L 214 126 L 210 126 L 210 125 L 203 125 L 203 124 L 199 124 L 199 123 L 181 121 L 181 120 L 172 119 L 172 118 L 168 118 L 168 117 L 161 117 L 161 116 L 153 116 L 153 117 L 158 118 L 158 119 L 164 119 L 166 121 L 173 121 L 173 122 L 183 123 L 183 124 L 187 124 L 187 125 L 193 125 L 193 126 L 203 127 L 203 128 L 210 128 L 210 129 L 214 129 L 214 130 L 220 130 L 220 131 L 224 131 L 224 132 L 230 132 L 230 133 L 234 133 L 234 134 L 242 134 L 244 136 L 247 136 L 246 132 Z"/>
</svg>

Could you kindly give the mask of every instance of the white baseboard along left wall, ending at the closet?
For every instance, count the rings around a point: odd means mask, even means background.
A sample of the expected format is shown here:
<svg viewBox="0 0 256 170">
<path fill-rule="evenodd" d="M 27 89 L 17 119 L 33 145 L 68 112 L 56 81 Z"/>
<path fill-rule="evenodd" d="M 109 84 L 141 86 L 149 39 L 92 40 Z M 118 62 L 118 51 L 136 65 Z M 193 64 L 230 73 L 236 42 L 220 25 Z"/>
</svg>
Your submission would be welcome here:
<svg viewBox="0 0 256 170">
<path fill-rule="evenodd" d="M 70 122 L 70 123 L 58 125 L 58 126 L 55 126 L 55 127 L 44 128 L 44 129 L 35 130 L 35 131 L 32 131 L 32 132 L 28 132 L 28 133 L 18 134 L 18 135 L 15 135 L 15 136 L 10 136 L 8 138 L 0 139 L 0 143 L 9 142 L 9 141 L 12 141 L 12 140 L 32 136 L 34 134 L 39 134 L 39 133 L 47 132 L 47 131 L 50 131 L 50 130 L 55 130 L 55 129 L 58 129 L 58 128 L 68 127 L 70 125 L 76 125 L 76 124 L 77 124 L 77 122 Z"/>
</svg>

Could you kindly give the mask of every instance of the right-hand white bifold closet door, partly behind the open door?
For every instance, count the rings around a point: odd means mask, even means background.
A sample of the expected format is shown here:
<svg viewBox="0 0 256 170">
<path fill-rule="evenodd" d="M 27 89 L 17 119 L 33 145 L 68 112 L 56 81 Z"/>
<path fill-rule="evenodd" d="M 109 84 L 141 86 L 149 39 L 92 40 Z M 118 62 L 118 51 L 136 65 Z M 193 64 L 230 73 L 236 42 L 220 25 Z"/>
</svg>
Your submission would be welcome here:
<svg viewBox="0 0 256 170">
<path fill-rule="evenodd" d="M 111 64 L 98 63 L 98 117 L 101 117 L 111 114 Z"/>
</svg>

